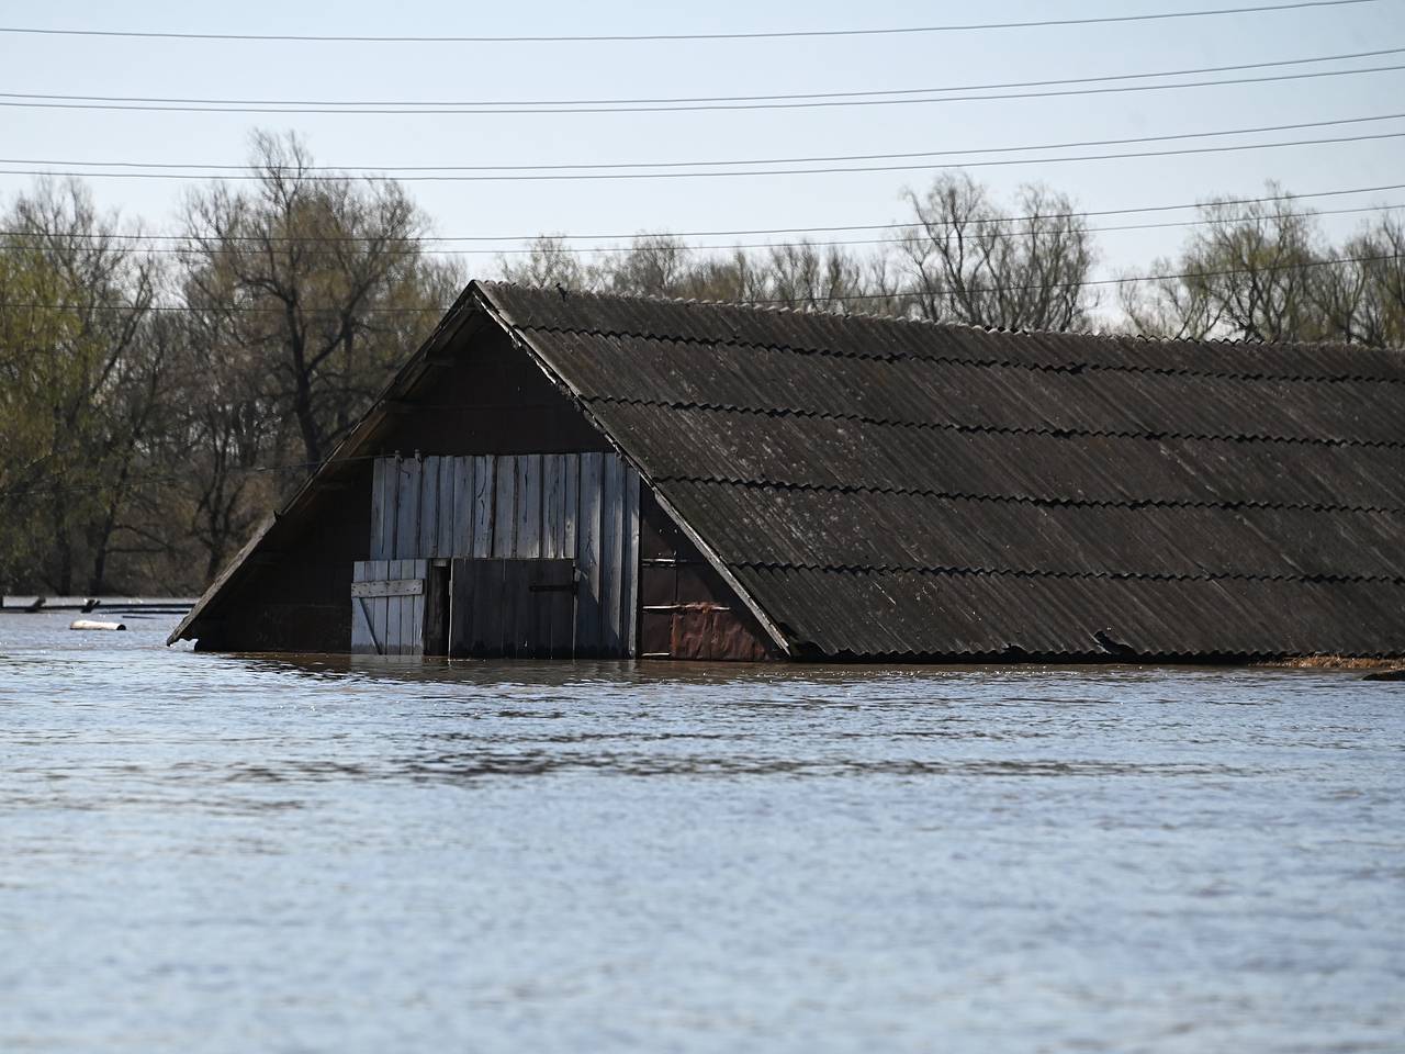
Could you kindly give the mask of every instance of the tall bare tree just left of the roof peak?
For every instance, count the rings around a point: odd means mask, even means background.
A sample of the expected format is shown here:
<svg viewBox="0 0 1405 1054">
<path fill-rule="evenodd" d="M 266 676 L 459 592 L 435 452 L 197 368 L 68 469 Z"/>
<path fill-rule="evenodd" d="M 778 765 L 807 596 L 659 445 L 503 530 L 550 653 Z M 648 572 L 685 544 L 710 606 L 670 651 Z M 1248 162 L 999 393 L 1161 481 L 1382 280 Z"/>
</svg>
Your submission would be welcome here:
<svg viewBox="0 0 1405 1054">
<path fill-rule="evenodd" d="M 455 277 L 420 246 L 426 221 L 393 181 L 315 170 L 296 136 L 254 136 L 251 193 L 192 194 L 184 295 L 221 343 L 261 358 L 308 461 L 320 461 Z"/>
</svg>

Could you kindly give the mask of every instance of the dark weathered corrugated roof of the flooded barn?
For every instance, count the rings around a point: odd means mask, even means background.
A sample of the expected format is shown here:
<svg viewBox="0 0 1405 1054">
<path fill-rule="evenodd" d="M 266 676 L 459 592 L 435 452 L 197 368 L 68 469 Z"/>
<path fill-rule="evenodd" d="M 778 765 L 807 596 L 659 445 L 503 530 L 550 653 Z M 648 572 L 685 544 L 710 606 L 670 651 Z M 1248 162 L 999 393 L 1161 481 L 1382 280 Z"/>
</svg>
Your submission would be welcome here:
<svg viewBox="0 0 1405 1054">
<path fill-rule="evenodd" d="M 794 656 L 1405 653 L 1398 351 L 493 282 L 455 312 L 569 395 Z"/>
</svg>

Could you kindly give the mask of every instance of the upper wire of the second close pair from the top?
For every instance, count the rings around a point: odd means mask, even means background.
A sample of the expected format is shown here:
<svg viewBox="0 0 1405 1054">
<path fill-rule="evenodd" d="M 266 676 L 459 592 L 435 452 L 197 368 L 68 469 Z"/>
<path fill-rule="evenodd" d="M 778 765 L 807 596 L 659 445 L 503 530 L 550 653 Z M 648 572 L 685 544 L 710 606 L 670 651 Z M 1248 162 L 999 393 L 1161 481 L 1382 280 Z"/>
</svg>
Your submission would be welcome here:
<svg viewBox="0 0 1405 1054">
<path fill-rule="evenodd" d="M 579 164 L 395 164 L 395 166 L 358 166 L 357 169 L 337 169 L 333 166 L 264 166 L 259 164 L 200 164 L 188 163 L 181 164 L 177 162 L 65 162 L 65 160 L 31 160 L 22 157 L 0 157 L 0 164 L 55 164 L 55 166 L 87 166 L 87 167 L 111 167 L 111 169 L 205 169 L 218 174 L 208 174 L 207 171 L 194 173 L 176 173 L 174 176 L 162 176 L 163 178 L 244 178 L 244 180 L 263 180 L 267 178 L 268 173 L 288 174 L 294 178 L 306 180 L 341 180 L 344 173 L 348 171 L 370 171 L 370 173 L 392 173 L 392 171 L 593 171 L 593 170 L 617 170 L 617 169 L 695 169 L 695 167 L 715 167 L 715 166 L 739 166 L 739 164 L 825 164 L 832 162 L 887 162 L 887 160 L 910 160 L 916 157 L 958 157 L 975 153 L 1026 153 L 1030 150 L 1071 150 L 1085 146 L 1127 146 L 1130 143 L 1159 143 L 1170 142 L 1173 139 L 1211 139 L 1225 135 L 1260 135 L 1264 132 L 1290 132 L 1301 131 L 1305 128 L 1332 128 L 1336 125 L 1357 125 L 1357 124 L 1371 124 L 1375 121 L 1399 121 L 1405 119 L 1405 112 L 1398 114 L 1375 114 L 1371 117 L 1343 117 L 1335 121 L 1302 121 L 1290 125 L 1255 125 L 1249 128 L 1228 128 L 1214 132 L 1176 132 L 1173 135 L 1138 135 L 1125 139 L 1079 139 L 1073 142 L 1062 143 L 1035 143 L 1031 146 L 984 146 L 961 150 L 906 150 L 901 153 L 839 153 L 839 155 L 816 155 L 811 157 L 742 157 L 736 160 L 687 160 L 687 162 L 584 162 Z M 236 171 L 237 176 L 225 176 L 226 171 Z M 330 171 L 329 176 L 308 176 L 309 171 Z M 73 173 L 63 173 L 73 174 Z M 145 176 L 148 173 L 136 173 L 138 176 Z M 365 178 L 365 177 L 362 177 Z M 381 176 L 379 178 L 399 178 L 396 176 Z"/>
</svg>

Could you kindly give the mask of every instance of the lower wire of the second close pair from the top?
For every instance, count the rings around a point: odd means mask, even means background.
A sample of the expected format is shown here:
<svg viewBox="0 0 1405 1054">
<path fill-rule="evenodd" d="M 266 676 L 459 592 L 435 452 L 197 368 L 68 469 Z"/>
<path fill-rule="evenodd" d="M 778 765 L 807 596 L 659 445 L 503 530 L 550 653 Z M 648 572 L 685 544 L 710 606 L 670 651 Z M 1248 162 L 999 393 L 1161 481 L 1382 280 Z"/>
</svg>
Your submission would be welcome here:
<svg viewBox="0 0 1405 1054">
<path fill-rule="evenodd" d="M 527 173 L 524 176 L 402 176 L 365 178 L 377 181 L 400 183 L 540 183 L 540 181 L 596 181 L 596 180 L 695 180 L 695 178 L 726 178 L 738 176 L 836 176 L 847 173 L 870 171 L 940 171 L 947 169 L 992 169 L 1010 164 L 1059 164 L 1066 162 L 1111 162 L 1138 157 L 1184 157 L 1198 153 L 1236 153 L 1242 150 L 1269 150 L 1288 146 L 1324 146 L 1329 143 L 1356 143 L 1378 139 L 1399 139 L 1405 132 L 1375 132 L 1370 135 L 1338 135 L 1325 139 L 1288 139 L 1273 143 L 1235 143 L 1231 146 L 1184 146 L 1175 150 L 1135 150 L 1130 153 L 1079 153 L 1069 156 L 1041 156 L 1041 157 L 1005 157 L 999 160 L 968 160 L 947 164 L 861 164 L 861 166 L 826 166 L 819 169 L 747 169 L 742 171 L 587 171 L 587 173 Z M 1190 138 L 1190 136 L 1176 136 Z M 1007 150 L 1023 150 L 1027 148 L 998 148 Z M 951 155 L 957 152 L 950 152 Z M 119 178 L 119 180 L 190 180 L 208 178 L 218 181 L 261 180 L 261 176 L 198 176 L 170 171 L 65 171 L 53 169 L 0 169 L 0 176 L 81 176 L 83 178 Z M 309 176 L 309 180 L 326 180 L 329 177 Z"/>
</svg>

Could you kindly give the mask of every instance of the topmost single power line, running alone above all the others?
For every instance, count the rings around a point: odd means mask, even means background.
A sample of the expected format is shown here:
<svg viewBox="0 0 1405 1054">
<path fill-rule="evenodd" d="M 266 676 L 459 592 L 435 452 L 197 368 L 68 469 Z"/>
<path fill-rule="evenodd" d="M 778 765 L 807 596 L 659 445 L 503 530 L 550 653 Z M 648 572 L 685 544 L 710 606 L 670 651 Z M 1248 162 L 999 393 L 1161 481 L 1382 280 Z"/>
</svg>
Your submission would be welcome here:
<svg viewBox="0 0 1405 1054">
<path fill-rule="evenodd" d="M 1300 0 L 1287 4 L 1259 4 L 1255 7 L 1215 7 L 1198 11 L 1155 11 L 1148 14 L 1103 15 L 1094 18 L 1040 18 L 1012 22 L 954 22 L 946 25 L 902 25 L 851 30 L 757 30 L 747 32 L 655 32 L 655 34 L 589 34 L 589 35 L 419 35 L 372 37 L 330 34 L 251 34 L 251 32 L 157 32 L 142 30 L 65 30 L 44 27 L 0 27 L 0 32 L 46 37 L 115 37 L 162 41 L 277 41 L 295 44 L 624 44 L 663 41 L 763 41 L 801 39 L 815 37 L 896 37 L 905 34 L 974 32 L 986 30 L 1043 30 L 1076 25 L 1110 25 L 1118 22 L 1149 22 L 1183 18 L 1211 18 L 1234 14 L 1269 14 L 1321 7 L 1353 7 L 1377 0 Z"/>
</svg>

